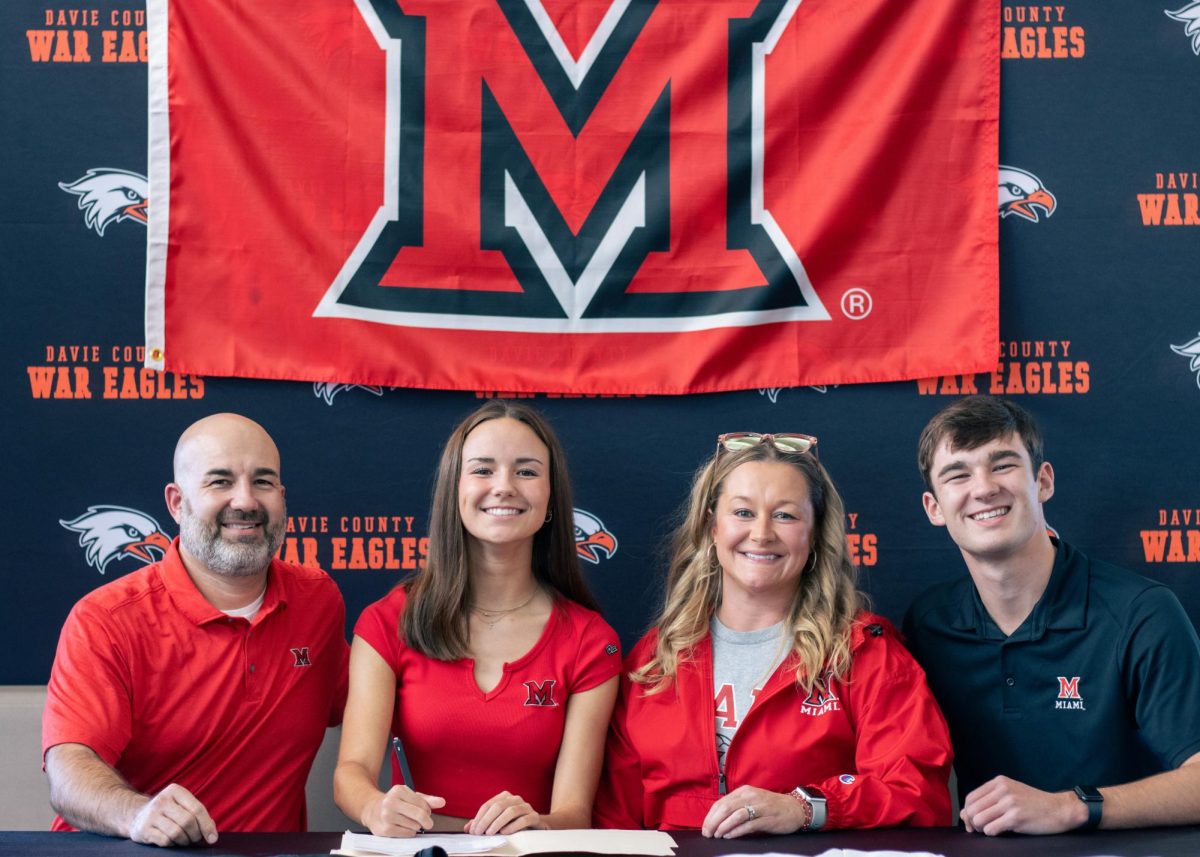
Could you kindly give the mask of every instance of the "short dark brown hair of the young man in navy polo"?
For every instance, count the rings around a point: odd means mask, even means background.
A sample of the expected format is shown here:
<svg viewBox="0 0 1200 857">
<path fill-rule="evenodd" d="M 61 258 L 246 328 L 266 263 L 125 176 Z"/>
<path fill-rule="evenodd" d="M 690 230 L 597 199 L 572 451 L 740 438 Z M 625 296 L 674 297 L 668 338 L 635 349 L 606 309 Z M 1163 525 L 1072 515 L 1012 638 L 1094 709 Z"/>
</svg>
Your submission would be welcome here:
<svg viewBox="0 0 1200 857">
<path fill-rule="evenodd" d="M 942 441 L 949 441 L 950 449 L 978 449 L 1009 435 L 1021 438 L 1030 454 L 1033 472 L 1037 473 L 1045 461 L 1045 451 L 1042 430 L 1028 410 L 996 396 L 966 396 L 946 406 L 920 432 L 920 441 L 917 443 L 917 467 L 925 480 L 925 487 L 934 490 L 930 469 L 934 467 L 934 454 Z"/>
</svg>

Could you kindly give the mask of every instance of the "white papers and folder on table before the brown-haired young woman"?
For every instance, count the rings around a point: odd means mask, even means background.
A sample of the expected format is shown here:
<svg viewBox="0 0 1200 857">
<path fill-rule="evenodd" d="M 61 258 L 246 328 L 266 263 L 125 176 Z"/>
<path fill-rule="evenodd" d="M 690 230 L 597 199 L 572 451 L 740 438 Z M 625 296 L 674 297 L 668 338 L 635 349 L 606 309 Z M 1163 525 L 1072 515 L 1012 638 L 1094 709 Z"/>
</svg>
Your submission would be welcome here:
<svg viewBox="0 0 1200 857">
<path fill-rule="evenodd" d="M 440 845 L 450 855 L 523 857 L 524 855 L 577 851 L 594 855 L 646 855 L 672 857 L 676 841 L 661 831 L 521 831 L 510 837 L 422 833 L 408 839 L 342 835 L 342 846 L 330 853 L 344 857 L 410 857 L 421 849 Z"/>
</svg>

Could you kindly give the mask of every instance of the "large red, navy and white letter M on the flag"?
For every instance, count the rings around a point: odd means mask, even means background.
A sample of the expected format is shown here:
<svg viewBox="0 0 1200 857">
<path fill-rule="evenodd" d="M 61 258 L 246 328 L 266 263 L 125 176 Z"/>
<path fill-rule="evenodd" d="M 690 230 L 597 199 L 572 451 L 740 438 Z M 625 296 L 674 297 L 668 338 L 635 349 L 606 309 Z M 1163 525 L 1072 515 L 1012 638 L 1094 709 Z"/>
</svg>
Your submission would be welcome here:
<svg viewBox="0 0 1200 857">
<path fill-rule="evenodd" d="M 612 0 L 598 20 L 356 2 L 386 56 L 384 196 L 314 314 L 527 332 L 829 318 L 764 200 L 767 58 L 800 0 Z"/>
</svg>

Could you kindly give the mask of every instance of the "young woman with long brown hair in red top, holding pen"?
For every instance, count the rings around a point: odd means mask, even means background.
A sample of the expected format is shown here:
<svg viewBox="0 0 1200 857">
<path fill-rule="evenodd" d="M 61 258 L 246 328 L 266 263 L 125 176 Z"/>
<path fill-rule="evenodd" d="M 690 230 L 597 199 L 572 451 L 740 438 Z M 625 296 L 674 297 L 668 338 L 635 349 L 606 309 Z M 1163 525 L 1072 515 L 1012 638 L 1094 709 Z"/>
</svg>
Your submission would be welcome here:
<svg viewBox="0 0 1200 857">
<path fill-rule="evenodd" d="M 562 444 L 491 401 L 442 454 L 425 568 L 355 625 L 334 798 L 377 835 L 588 827 L 619 670 Z M 394 735 L 412 779 L 380 790 Z"/>
</svg>

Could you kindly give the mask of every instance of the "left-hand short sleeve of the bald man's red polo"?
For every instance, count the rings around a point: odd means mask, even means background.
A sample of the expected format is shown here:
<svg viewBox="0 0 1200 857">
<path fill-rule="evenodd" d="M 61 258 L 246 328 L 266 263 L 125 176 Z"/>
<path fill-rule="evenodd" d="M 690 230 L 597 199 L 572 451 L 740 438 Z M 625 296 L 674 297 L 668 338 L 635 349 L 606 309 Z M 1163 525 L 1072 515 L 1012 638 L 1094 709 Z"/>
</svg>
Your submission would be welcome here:
<svg viewBox="0 0 1200 857">
<path fill-rule="evenodd" d="M 84 744 L 115 767 L 133 731 L 132 677 L 119 629 L 85 598 L 67 616 L 42 712 L 42 756 Z"/>
</svg>

